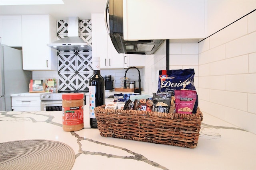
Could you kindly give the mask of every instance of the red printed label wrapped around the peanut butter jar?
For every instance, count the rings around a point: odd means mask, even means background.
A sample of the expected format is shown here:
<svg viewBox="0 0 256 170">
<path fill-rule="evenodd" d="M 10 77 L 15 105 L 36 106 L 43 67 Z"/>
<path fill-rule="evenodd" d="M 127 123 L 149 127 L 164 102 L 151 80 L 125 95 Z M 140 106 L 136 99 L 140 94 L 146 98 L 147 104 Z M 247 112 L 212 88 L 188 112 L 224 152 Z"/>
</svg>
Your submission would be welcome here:
<svg viewBox="0 0 256 170">
<path fill-rule="evenodd" d="M 79 125 L 84 123 L 83 106 L 62 107 L 63 125 Z"/>
</svg>

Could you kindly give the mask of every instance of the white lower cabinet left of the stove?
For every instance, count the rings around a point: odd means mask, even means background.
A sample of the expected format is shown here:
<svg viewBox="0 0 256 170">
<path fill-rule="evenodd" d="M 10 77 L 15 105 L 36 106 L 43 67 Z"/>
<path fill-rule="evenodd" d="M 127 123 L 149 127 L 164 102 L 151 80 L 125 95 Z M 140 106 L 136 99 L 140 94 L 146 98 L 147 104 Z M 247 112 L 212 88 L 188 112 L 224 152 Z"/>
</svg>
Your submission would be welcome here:
<svg viewBox="0 0 256 170">
<path fill-rule="evenodd" d="M 12 111 L 40 111 L 41 93 L 11 94 Z"/>
</svg>

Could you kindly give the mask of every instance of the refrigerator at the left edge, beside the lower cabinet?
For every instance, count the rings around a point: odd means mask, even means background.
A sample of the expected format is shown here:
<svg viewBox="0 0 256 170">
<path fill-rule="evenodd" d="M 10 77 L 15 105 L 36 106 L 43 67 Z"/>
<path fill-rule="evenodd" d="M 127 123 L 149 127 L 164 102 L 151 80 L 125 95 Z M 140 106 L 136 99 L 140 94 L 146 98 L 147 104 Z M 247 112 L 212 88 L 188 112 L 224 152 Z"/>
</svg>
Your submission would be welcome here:
<svg viewBox="0 0 256 170">
<path fill-rule="evenodd" d="M 0 43 L 0 111 L 11 111 L 11 94 L 28 92 L 31 71 L 22 69 L 22 51 Z"/>
</svg>

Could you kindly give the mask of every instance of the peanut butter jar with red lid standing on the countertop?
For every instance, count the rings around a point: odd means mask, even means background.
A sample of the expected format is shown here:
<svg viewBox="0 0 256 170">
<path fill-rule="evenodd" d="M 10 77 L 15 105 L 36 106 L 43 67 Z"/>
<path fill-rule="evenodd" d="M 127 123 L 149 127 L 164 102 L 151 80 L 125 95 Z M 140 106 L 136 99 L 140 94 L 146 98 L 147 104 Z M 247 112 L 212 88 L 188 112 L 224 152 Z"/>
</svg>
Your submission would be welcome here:
<svg viewBox="0 0 256 170">
<path fill-rule="evenodd" d="M 62 94 L 62 128 L 79 131 L 84 128 L 84 94 Z"/>
</svg>

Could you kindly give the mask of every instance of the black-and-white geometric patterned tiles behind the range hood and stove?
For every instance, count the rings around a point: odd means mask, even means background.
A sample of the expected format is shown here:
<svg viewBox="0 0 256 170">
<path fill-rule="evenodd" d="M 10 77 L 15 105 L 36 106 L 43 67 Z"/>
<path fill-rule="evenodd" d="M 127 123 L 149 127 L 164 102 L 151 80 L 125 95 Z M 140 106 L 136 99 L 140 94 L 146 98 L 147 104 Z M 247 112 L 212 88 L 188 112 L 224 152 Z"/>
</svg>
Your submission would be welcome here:
<svg viewBox="0 0 256 170">
<path fill-rule="evenodd" d="M 91 20 L 79 21 L 78 35 L 92 45 Z M 57 39 L 68 36 L 68 20 L 57 21 Z M 93 75 L 92 51 L 58 51 L 58 91 L 88 91 Z"/>
</svg>

